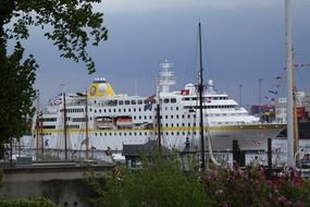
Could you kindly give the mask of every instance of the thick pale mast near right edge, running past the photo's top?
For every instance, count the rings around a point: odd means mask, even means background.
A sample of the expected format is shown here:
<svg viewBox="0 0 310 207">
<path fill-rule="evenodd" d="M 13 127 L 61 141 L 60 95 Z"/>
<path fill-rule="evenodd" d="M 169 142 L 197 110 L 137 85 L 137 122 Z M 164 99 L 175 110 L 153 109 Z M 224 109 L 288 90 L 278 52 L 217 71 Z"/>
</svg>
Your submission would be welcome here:
<svg viewBox="0 0 310 207">
<path fill-rule="evenodd" d="M 293 46 L 290 0 L 285 0 L 286 25 L 286 83 L 287 83 L 287 167 L 295 168 L 294 154 L 294 101 L 293 101 Z"/>
</svg>

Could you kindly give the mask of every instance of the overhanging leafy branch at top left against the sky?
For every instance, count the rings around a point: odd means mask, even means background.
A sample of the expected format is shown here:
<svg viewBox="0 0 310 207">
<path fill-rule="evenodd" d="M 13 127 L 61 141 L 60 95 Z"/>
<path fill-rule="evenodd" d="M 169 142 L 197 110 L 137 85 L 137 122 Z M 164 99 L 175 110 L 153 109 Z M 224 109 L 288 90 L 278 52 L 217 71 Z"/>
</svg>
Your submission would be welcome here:
<svg viewBox="0 0 310 207">
<path fill-rule="evenodd" d="M 103 14 L 92 11 L 92 4 L 99 2 L 101 0 L 0 0 L 0 29 L 14 20 L 4 36 L 18 40 L 28 38 L 32 25 L 47 27 L 45 36 L 58 47 L 61 57 L 83 61 L 89 73 L 94 73 L 95 63 L 86 47 L 89 41 L 98 46 L 108 38 L 108 29 L 102 26 Z"/>
</svg>

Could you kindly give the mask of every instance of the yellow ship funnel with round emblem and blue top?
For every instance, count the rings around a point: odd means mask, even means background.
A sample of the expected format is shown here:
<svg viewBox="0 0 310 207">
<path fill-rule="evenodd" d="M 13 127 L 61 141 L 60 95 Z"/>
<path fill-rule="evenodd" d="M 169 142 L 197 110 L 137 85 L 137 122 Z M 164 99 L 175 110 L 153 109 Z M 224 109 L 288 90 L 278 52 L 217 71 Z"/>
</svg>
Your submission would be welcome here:
<svg viewBox="0 0 310 207">
<path fill-rule="evenodd" d="M 109 82 L 104 77 L 96 77 L 90 85 L 89 97 L 114 97 L 115 93 Z"/>
</svg>

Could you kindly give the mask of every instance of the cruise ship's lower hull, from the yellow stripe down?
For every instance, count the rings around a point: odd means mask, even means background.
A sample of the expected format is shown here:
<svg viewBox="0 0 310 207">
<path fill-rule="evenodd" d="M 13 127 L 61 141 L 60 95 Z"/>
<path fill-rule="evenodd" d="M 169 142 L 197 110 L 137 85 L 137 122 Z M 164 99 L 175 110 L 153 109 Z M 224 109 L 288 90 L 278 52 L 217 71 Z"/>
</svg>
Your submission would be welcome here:
<svg viewBox="0 0 310 207">
<path fill-rule="evenodd" d="M 260 124 L 260 125 L 230 125 L 230 126 L 209 126 L 206 131 L 206 149 L 210 142 L 213 150 L 232 150 L 232 142 L 238 141 L 239 148 L 243 150 L 262 150 L 266 149 L 268 138 L 276 137 L 283 130 L 281 124 Z M 69 130 L 67 143 L 69 149 L 85 150 L 85 139 L 83 130 Z M 48 139 L 49 146 L 46 148 L 60 149 L 64 146 L 62 131 L 46 131 L 45 139 Z M 145 144 L 148 139 L 156 139 L 156 130 L 89 130 L 89 149 L 121 151 L 123 144 Z M 169 148 L 177 148 L 182 150 L 185 147 L 186 138 L 191 141 L 193 146 L 197 149 L 200 147 L 199 129 L 189 127 L 163 127 L 162 144 Z"/>
</svg>

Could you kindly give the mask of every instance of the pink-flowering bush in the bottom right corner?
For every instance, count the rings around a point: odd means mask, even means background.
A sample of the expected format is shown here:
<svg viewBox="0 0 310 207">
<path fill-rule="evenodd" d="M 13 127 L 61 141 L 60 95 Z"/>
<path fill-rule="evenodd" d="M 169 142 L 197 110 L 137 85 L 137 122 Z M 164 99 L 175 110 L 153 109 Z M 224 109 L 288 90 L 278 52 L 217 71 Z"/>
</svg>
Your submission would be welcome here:
<svg viewBox="0 0 310 207">
<path fill-rule="evenodd" d="M 202 181 L 213 206 L 310 206 L 310 184 L 295 170 L 268 179 L 263 169 L 214 169 Z"/>
</svg>

